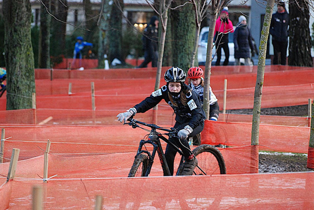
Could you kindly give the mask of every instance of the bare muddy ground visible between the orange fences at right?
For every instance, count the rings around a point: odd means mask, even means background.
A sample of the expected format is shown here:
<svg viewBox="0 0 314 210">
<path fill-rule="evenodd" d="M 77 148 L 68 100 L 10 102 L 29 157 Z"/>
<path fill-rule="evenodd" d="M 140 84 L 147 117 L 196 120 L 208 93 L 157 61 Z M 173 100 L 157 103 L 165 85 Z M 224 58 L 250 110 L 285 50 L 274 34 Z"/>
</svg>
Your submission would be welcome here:
<svg viewBox="0 0 314 210">
<path fill-rule="evenodd" d="M 261 115 L 307 116 L 307 105 L 261 109 Z M 229 114 L 252 114 L 252 109 L 227 110 Z M 259 153 L 259 173 L 307 171 L 307 156 L 295 153 Z"/>
</svg>

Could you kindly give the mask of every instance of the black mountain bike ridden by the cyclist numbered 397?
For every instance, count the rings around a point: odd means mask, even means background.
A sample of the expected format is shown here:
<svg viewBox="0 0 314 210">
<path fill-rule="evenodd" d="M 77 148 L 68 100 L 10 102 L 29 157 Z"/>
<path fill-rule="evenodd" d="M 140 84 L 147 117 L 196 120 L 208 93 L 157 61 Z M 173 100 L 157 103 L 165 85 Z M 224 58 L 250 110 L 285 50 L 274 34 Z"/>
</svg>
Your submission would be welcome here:
<svg viewBox="0 0 314 210">
<path fill-rule="evenodd" d="M 133 128 L 141 128 L 149 132 L 145 135 L 144 138 L 140 141 L 138 151 L 136 153 L 133 166 L 131 167 L 128 177 L 136 176 L 149 176 L 149 173 L 152 169 L 154 163 L 154 158 L 156 152 L 159 157 L 159 161 L 164 172 L 164 175 L 171 175 L 168 164 L 165 159 L 165 154 L 161 146 L 160 139 L 165 141 L 167 144 L 170 144 L 174 147 L 177 152 L 181 155 L 181 161 L 176 172 L 176 175 L 180 175 L 183 170 L 184 156 L 182 151 L 172 142 L 170 142 L 165 136 L 174 137 L 179 140 L 177 136 L 178 131 L 175 128 L 160 127 L 155 124 L 148 124 L 145 122 L 137 121 L 133 118 L 128 119 L 128 124 Z M 143 128 L 140 125 L 150 127 L 151 129 Z M 159 131 L 164 131 L 161 133 Z M 146 147 L 146 144 L 153 146 L 152 151 Z M 144 148 L 143 148 L 144 146 Z M 220 153 L 220 151 L 212 145 L 203 144 L 196 147 L 193 151 L 193 154 L 198 159 L 198 165 L 194 168 L 194 175 L 212 175 L 212 174 L 226 174 L 225 160 Z"/>
</svg>

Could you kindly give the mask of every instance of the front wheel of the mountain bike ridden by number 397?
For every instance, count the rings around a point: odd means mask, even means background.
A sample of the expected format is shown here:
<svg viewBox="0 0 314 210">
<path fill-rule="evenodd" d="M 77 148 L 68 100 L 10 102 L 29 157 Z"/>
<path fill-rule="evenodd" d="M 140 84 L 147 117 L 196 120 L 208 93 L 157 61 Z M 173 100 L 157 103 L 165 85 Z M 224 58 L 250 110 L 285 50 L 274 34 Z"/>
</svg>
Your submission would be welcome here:
<svg viewBox="0 0 314 210">
<path fill-rule="evenodd" d="M 148 167 L 148 157 L 146 154 L 139 154 L 135 157 L 133 166 L 128 177 L 145 176 Z"/>
</svg>

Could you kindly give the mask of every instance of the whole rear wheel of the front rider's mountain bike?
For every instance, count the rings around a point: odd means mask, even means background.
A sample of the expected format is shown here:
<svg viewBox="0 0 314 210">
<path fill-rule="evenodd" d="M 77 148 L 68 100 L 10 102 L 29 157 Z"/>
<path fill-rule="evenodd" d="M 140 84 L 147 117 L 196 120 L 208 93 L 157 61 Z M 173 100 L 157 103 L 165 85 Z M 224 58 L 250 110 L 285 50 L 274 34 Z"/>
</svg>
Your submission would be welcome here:
<svg viewBox="0 0 314 210">
<path fill-rule="evenodd" d="M 193 150 L 198 159 L 198 167 L 194 168 L 196 175 L 226 174 L 225 160 L 220 151 L 212 145 L 203 144 Z M 203 170 L 203 171 L 202 171 Z"/>
</svg>

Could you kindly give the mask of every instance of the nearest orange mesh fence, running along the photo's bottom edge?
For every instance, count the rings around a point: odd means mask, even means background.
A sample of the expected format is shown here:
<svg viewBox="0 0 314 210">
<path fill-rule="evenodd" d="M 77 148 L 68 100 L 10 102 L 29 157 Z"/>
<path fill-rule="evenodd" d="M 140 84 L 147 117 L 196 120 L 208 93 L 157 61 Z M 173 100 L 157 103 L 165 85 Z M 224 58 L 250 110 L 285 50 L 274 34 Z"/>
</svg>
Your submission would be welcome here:
<svg viewBox="0 0 314 210">
<path fill-rule="evenodd" d="M 14 180 L 9 210 L 31 209 L 32 186 L 44 209 L 313 209 L 314 173 L 148 178 Z"/>
</svg>

